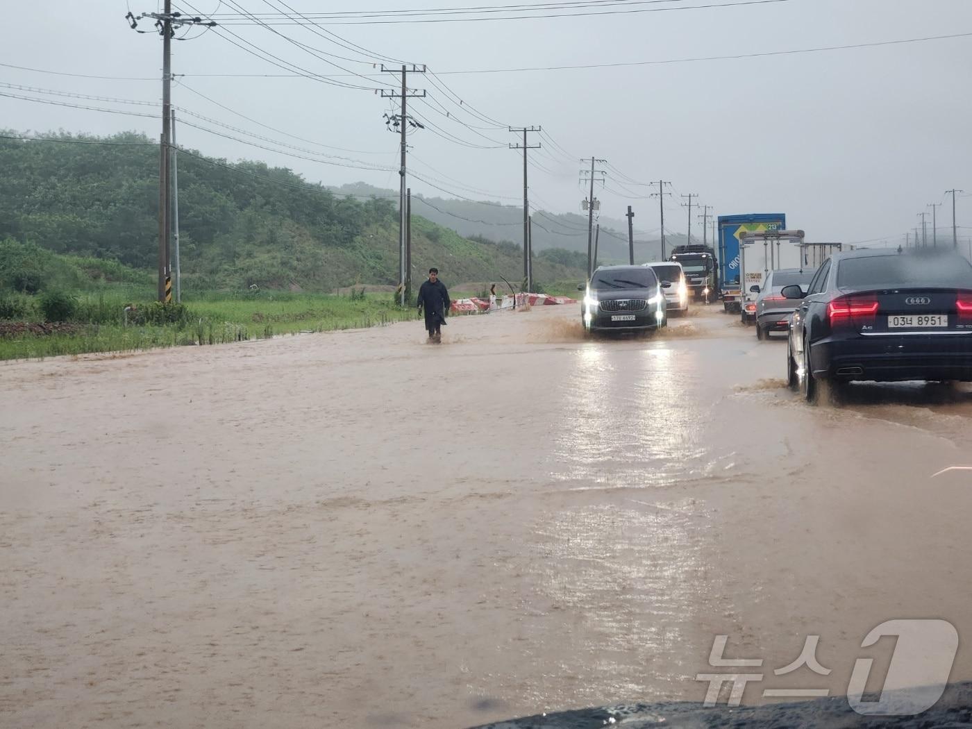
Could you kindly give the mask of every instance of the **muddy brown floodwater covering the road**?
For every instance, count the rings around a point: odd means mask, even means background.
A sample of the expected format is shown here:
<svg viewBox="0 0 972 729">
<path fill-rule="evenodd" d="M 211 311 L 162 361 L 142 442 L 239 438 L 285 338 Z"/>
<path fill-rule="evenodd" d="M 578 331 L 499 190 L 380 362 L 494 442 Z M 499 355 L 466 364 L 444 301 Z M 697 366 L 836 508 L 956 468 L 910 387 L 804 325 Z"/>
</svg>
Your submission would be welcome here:
<svg viewBox="0 0 972 729">
<path fill-rule="evenodd" d="M 746 703 L 844 694 L 907 617 L 954 623 L 972 678 L 972 471 L 934 475 L 972 466 L 967 390 L 808 407 L 784 341 L 714 308 L 578 320 L 0 364 L 0 726 L 700 701 L 716 635 L 764 659 Z M 775 676 L 808 635 L 831 673 Z"/>
</svg>

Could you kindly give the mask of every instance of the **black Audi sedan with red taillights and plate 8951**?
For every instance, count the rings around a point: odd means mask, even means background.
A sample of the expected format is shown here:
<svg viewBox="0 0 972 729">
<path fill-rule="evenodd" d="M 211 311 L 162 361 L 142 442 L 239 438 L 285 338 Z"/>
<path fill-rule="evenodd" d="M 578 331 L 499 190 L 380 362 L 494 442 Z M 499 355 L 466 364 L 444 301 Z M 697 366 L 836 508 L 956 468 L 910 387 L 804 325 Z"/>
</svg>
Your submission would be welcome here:
<svg viewBox="0 0 972 729">
<path fill-rule="evenodd" d="M 800 299 L 787 383 L 815 400 L 820 382 L 972 381 L 972 263 L 939 249 L 834 255 Z"/>
</svg>

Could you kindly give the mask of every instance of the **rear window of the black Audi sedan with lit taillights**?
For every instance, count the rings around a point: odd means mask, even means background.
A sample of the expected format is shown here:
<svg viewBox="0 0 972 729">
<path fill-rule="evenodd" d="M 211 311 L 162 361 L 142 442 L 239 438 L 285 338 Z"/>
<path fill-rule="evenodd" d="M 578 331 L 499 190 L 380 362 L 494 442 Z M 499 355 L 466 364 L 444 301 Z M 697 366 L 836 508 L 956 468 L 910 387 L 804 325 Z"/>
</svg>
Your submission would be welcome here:
<svg viewBox="0 0 972 729">
<path fill-rule="evenodd" d="M 960 256 L 891 254 L 845 259 L 837 266 L 839 289 L 899 286 L 972 288 L 972 264 Z"/>
</svg>

